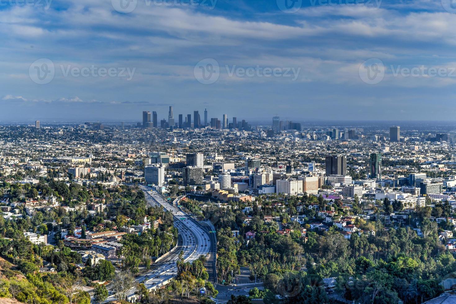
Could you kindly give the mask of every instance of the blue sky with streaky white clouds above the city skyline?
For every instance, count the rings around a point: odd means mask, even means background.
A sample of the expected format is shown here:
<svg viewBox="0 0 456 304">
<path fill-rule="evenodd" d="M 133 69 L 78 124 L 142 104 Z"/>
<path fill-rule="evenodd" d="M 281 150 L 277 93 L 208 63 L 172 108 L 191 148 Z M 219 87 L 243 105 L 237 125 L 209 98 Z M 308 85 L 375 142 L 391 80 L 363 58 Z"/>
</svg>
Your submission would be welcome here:
<svg viewBox="0 0 456 304">
<path fill-rule="evenodd" d="M 137 0 L 128 13 L 115 1 L 1 1 L 1 122 L 140 121 L 143 110 L 162 119 L 169 105 L 176 117 L 207 108 L 209 119 L 454 120 L 456 9 L 447 0 L 299 0 L 294 12 L 280 10 L 285 0 Z M 30 73 L 43 58 L 55 75 L 38 84 Z M 218 64 L 210 84 L 195 76 L 207 58 Z M 374 84 L 361 75 L 371 58 L 384 65 Z M 406 73 L 421 66 L 442 73 Z M 249 68 L 260 72 L 246 76 Z M 297 77 L 286 76 L 292 70 Z"/>
</svg>

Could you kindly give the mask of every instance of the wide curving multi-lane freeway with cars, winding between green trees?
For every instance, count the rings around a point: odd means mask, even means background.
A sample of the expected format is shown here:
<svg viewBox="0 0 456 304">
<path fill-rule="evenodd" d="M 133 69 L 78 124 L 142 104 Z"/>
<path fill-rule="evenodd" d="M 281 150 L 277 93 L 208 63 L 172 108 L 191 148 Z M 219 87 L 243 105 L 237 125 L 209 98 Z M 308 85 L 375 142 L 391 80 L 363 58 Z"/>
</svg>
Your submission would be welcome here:
<svg viewBox="0 0 456 304">
<path fill-rule="evenodd" d="M 149 290 L 160 288 L 168 283 L 171 278 L 177 274 L 176 261 L 180 250 L 183 250 L 183 259 L 185 262 L 192 263 L 201 255 L 206 256 L 211 248 L 210 234 L 206 229 L 203 229 L 194 219 L 187 213 L 180 210 L 177 206 L 176 199 L 170 203 L 164 196 L 154 189 L 140 185 L 141 190 L 145 192 L 145 198 L 148 206 L 163 206 L 166 211 L 172 211 L 174 217 L 174 226 L 179 231 L 179 236 L 182 240 L 182 247 L 172 251 L 168 256 L 163 258 L 160 263 L 154 263 L 152 269 L 136 277 L 138 283 L 144 283 Z M 213 238 L 212 238 L 213 239 Z M 115 295 L 111 295 L 107 301 L 115 299 Z M 137 301 L 135 290 L 131 289 L 127 299 L 130 302 Z"/>
</svg>

